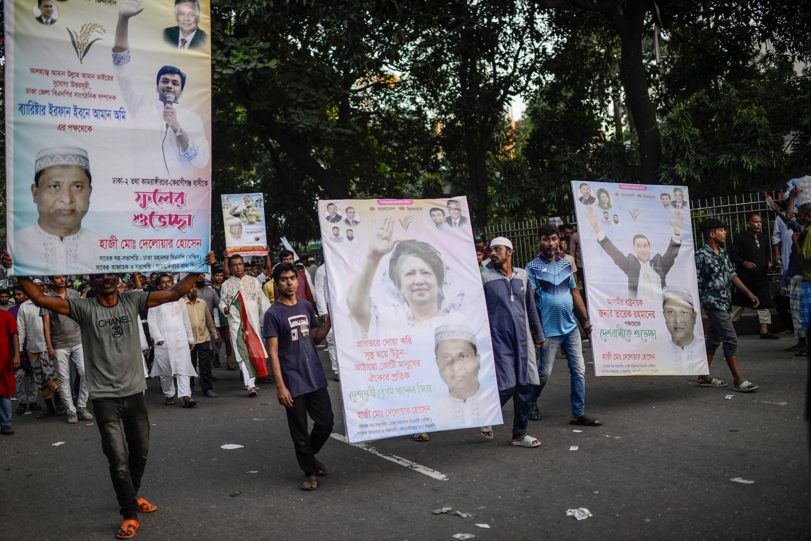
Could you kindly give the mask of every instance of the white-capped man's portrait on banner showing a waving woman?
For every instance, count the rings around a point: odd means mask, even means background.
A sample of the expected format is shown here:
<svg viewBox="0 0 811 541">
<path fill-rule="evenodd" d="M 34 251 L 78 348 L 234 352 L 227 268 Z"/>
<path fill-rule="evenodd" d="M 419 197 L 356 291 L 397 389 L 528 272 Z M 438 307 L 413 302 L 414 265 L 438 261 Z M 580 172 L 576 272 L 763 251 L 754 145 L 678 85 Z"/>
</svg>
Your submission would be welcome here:
<svg viewBox="0 0 811 541">
<path fill-rule="evenodd" d="M 481 356 L 473 329 L 440 325 L 434 332 L 436 367 L 448 393 L 431 404 L 431 418 L 440 430 L 478 427 L 490 422 L 498 397 L 478 382 Z"/>
</svg>

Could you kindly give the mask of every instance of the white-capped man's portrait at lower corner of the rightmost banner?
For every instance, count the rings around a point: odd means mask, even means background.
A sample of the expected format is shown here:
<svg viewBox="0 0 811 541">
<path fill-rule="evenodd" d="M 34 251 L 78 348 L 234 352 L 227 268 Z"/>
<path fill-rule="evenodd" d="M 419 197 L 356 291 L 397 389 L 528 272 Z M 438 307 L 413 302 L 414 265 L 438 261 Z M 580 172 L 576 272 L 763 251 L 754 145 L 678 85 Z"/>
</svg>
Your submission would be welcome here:
<svg viewBox="0 0 811 541">
<path fill-rule="evenodd" d="M 706 362 L 703 342 L 696 341 L 698 314 L 693 294 L 680 286 L 662 288 L 662 311 L 671 340 L 656 350 L 659 371 L 672 374 L 701 373 Z M 701 367 L 701 368 L 699 368 Z"/>
</svg>

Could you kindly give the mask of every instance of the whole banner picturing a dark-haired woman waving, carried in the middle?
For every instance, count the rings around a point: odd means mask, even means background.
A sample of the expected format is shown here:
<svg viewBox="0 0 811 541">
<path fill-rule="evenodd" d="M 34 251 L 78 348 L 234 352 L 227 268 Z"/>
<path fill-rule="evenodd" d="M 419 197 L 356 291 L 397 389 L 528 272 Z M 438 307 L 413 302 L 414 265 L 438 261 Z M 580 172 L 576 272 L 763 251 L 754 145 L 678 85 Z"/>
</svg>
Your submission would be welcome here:
<svg viewBox="0 0 811 541">
<path fill-rule="evenodd" d="M 502 423 L 466 198 L 319 214 L 347 439 Z"/>
</svg>

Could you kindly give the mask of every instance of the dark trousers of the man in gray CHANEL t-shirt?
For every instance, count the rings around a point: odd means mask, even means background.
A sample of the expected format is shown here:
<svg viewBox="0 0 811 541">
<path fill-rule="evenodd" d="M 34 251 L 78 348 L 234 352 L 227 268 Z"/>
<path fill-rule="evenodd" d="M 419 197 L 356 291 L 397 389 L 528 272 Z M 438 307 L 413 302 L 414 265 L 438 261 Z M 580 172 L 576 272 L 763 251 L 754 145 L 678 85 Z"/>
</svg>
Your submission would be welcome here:
<svg viewBox="0 0 811 541">
<path fill-rule="evenodd" d="M 138 517 L 138 491 L 147 466 L 149 417 L 144 393 L 92 401 L 109 462 L 109 477 L 125 519 Z"/>
</svg>

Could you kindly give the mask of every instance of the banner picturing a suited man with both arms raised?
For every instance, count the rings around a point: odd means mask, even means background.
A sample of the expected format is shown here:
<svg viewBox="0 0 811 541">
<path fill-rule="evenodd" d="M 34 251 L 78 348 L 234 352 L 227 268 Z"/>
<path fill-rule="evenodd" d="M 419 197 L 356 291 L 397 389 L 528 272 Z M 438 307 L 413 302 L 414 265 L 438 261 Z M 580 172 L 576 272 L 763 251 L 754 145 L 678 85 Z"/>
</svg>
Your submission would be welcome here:
<svg viewBox="0 0 811 541">
<path fill-rule="evenodd" d="M 597 376 L 706 374 L 686 187 L 573 181 Z"/>
</svg>

